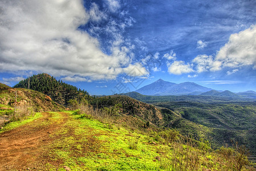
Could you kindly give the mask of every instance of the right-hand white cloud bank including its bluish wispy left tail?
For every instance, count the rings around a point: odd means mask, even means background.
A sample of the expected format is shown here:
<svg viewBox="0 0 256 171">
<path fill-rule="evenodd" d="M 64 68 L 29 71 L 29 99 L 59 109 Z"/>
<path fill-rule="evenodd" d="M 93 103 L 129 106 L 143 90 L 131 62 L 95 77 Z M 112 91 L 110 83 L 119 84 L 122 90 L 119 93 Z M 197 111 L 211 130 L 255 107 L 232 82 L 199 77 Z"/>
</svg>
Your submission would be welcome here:
<svg viewBox="0 0 256 171">
<path fill-rule="evenodd" d="M 256 26 L 231 34 L 229 42 L 220 48 L 216 56 L 198 55 L 192 60 L 198 73 L 220 71 L 223 68 L 251 66 L 256 68 Z M 227 71 L 227 75 L 238 72 L 238 69 Z"/>
</svg>

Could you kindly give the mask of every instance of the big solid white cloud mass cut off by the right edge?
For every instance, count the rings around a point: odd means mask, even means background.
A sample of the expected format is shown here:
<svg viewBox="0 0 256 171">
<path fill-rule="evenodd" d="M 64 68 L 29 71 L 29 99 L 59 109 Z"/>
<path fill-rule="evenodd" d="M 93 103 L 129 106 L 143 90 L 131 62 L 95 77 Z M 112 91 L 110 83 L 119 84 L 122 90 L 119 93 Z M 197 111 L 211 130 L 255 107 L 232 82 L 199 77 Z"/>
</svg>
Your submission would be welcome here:
<svg viewBox="0 0 256 171">
<path fill-rule="evenodd" d="M 237 34 L 231 34 L 229 42 L 221 47 L 216 60 L 223 67 L 240 67 L 256 65 L 256 25 Z"/>
</svg>

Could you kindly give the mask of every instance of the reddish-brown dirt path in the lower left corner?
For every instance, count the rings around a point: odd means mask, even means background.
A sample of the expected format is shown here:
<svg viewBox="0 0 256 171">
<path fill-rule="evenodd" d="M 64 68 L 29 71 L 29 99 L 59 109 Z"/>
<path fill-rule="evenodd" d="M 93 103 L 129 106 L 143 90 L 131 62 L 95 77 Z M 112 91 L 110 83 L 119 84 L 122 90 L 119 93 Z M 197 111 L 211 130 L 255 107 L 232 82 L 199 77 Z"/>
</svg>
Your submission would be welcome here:
<svg viewBox="0 0 256 171">
<path fill-rule="evenodd" d="M 43 146 L 51 143 L 52 133 L 63 127 L 68 114 L 44 112 L 31 123 L 0 134 L 0 170 L 23 170 L 42 154 Z"/>
</svg>

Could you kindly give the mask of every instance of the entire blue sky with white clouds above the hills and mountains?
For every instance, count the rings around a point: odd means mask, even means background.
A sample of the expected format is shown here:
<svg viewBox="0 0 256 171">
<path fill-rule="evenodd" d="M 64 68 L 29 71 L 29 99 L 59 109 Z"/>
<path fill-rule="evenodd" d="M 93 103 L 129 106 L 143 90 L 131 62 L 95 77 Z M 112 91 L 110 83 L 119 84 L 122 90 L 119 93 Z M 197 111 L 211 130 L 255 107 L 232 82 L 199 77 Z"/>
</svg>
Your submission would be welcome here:
<svg viewBox="0 0 256 171">
<path fill-rule="evenodd" d="M 0 82 L 39 73 L 91 95 L 158 79 L 256 91 L 256 1 L 1 0 Z"/>
</svg>

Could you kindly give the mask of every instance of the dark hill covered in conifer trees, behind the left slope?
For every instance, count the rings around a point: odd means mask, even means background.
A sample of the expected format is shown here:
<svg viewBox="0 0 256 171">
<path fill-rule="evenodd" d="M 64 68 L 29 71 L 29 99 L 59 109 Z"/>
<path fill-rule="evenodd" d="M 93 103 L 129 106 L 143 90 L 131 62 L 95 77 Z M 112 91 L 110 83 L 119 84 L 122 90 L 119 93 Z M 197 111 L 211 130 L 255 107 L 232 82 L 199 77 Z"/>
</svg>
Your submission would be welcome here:
<svg viewBox="0 0 256 171">
<path fill-rule="evenodd" d="M 67 106 L 68 101 L 71 99 L 80 101 L 89 98 L 87 91 L 56 80 L 53 76 L 48 74 L 33 75 L 19 82 L 14 88 L 28 88 L 42 92 L 50 96 L 52 100 L 65 106 Z"/>
</svg>

